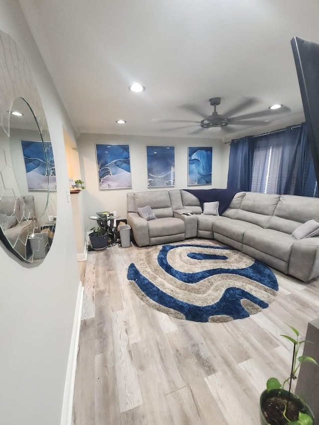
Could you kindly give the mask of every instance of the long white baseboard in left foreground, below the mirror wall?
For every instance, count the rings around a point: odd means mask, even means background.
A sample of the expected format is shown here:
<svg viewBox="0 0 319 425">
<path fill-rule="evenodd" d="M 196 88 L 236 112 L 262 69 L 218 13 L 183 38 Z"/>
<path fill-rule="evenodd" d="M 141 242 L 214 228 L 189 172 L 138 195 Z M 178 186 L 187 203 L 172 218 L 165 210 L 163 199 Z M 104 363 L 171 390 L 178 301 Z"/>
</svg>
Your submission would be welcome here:
<svg viewBox="0 0 319 425">
<path fill-rule="evenodd" d="M 71 342 L 70 342 L 69 359 L 68 359 L 65 384 L 64 384 L 61 425 L 72 424 L 75 370 L 76 370 L 76 361 L 77 361 L 77 355 L 78 355 L 82 303 L 83 303 L 83 286 L 82 286 L 82 282 L 80 282 L 78 287 L 78 294 L 76 298 L 73 329 L 72 329 Z"/>
</svg>

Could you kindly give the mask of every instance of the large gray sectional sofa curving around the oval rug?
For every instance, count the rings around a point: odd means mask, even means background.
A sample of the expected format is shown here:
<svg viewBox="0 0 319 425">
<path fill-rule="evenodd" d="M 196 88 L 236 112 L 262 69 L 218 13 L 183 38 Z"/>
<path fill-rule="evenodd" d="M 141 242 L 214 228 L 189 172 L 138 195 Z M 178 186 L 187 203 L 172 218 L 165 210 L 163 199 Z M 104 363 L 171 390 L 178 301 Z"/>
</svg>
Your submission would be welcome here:
<svg viewBox="0 0 319 425">
<path fill-rule="evenodd" d="M 307 221 L 319 222 L 318 198 L 238 192 L 218 216 L 202 214 L 198 198 L 185 190 L 135 192 L 127 198 L 128 224 L 140 247 L 215 239 L 304 282 L 319 276 L 319 236 L 292 236 Z M 138 208 L 146 205 L 156 220 L 139 216 Z"/>
</svg>

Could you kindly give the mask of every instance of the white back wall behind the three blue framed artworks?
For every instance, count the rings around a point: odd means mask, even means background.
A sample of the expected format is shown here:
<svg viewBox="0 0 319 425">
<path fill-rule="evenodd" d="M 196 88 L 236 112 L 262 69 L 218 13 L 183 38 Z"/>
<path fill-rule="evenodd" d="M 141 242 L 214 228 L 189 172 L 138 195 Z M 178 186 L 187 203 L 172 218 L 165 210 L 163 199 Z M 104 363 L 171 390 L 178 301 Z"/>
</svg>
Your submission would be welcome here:
<svg viewBox="0 0 319 425">
<path fill-rule="evenodd" d="M 119 143 L 130 145 L 132 189 L 99 190 L 98 171 L 96 163 L 96 143 Z M 212 146 L 212 184 L 191 186 L 193 189 L 225 188 L 227 185 L 229 145 L 210 139 L 165 138 L 126 135 L 97 135 L 81 134 L 78 142 L 78 151 L 81 162 L 81 178 L 85 182 L 84 199 L 86 215 L 94 215 L 97 211 L 114 211 L 122 218 L 127 216 L 127 192 L 159 190 L 161 188 L 147 187 L 147 145 L 175 146 L 175 187 L 187 188 L 187 146 Z M 87 221 L 87 228 L 94 222 Z"/>
</svg>

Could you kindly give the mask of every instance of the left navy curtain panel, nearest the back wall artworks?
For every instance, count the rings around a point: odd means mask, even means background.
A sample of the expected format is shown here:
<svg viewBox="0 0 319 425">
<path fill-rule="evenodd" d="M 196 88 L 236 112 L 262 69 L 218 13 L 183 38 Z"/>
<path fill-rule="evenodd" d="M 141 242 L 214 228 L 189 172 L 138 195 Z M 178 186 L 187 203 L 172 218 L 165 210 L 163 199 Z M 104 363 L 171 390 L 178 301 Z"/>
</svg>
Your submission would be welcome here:
<svg viewBox="0 0 319 425">
<path fill-rule="evenodd" d="M 227 189 L 250 191 L 253 159 L 254 141 L 251 136 L 231 142 Z"/>
</svg>

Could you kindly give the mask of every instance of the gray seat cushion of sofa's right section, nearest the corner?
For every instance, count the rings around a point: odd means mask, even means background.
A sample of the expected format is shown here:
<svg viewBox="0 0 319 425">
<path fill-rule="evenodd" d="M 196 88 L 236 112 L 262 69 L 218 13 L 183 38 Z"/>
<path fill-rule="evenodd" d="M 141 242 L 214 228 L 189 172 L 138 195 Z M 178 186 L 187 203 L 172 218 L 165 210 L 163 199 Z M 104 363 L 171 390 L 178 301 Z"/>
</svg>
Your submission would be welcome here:
<svg viewBox="0 0 319 425">
<path fill-rule="evenodd" d="M 254 233 L 261 229 L 260 226 L 246 221 L 235 220 L 228 217 L 220 218 L 220 220 L 216 220 L 213 224 L 214 233 L 226 236 L 233 241 L 243 242 L 244 233 L 247 230 Z"/>
</svg>

